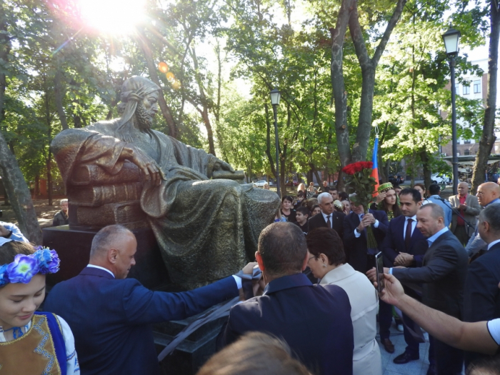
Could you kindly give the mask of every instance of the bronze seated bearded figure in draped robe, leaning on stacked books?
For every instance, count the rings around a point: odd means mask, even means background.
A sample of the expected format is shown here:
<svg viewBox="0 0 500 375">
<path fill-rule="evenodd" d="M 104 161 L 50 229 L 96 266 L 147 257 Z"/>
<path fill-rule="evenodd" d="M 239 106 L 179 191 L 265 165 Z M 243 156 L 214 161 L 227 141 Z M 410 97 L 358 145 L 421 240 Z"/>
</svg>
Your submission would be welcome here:
<svg viewBox="0 0 500 375">
<path fill-rule="evenodd" d="M 234 170 L 203 150 L 152 130 L 159 90 L 143 77 L 127 79 L 120 119 L 61 131 L 51 150 L 66 189 L 81 165 L 99 166 L 116 180 L 126 160 L 135 164 L 142 179 L 140 207 L 171 281 L 191 289 L 228 276 L 254 259 L 259 234 L 274 220 L 279 197 L 251 184 L 211 179 L 214 171 Z"/>
</svg>

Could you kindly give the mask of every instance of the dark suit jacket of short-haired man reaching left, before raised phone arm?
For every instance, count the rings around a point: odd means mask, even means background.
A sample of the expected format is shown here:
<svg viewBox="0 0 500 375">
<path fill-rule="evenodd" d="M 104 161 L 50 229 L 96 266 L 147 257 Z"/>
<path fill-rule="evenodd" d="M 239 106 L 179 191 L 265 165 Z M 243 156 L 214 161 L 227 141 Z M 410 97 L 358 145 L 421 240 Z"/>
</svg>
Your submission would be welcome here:
<svg viewBox="0 0 500 375">
<path fill-rule="evenodd" d="M 424 284 L 424 304 L 461 319 L 468 262 L 464 246 L 446 231 L 426 251 L 421 267 L 394 268 L 392 274 L 402 283 Z"/>
</svg>

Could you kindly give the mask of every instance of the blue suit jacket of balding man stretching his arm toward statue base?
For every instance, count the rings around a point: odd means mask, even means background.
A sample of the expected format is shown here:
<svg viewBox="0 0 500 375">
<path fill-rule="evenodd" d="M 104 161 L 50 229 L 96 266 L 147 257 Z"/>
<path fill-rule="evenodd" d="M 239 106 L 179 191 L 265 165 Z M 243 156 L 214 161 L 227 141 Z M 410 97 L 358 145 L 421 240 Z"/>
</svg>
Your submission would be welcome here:
<svg viewBox="0 0 500 375">
<path fill-rule="evenodd" d="M 44 307 L 73 331 L 81 374 L 155 375 L 160 368 L 150 324 L 184 319 L 235 296 L 232 276 L 193 291 L 166 293 L 86 267 L 56 284 Z"/>
</svg>

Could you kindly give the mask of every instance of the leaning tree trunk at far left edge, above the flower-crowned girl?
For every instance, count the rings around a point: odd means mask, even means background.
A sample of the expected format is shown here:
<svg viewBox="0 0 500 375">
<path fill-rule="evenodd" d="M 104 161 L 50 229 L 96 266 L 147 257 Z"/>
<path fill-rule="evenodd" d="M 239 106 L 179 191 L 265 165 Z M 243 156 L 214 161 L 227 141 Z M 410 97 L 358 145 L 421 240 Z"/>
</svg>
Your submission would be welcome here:
<svg viewBox="0 0 500 375">
<path fill-rule="evenodd" d="M 7 34 L 6 21 L 0 16 L 0 61 L 9 61 L 11 49 L 9 34 Z M 0 71 L 0 124 L 4 121 L 5 114 L 5 71 Z M 9 150 L 9 145 L 0 132 L 0 174 L 4 181 L 6 196 L 11 202 L 16 214 L 21 232 L 35 244 L 41 244 L 41 230 L 36 219 L 36 211 L 31 200 L 28 185 L 19 169 L 16 158 Z"/>
</svg>

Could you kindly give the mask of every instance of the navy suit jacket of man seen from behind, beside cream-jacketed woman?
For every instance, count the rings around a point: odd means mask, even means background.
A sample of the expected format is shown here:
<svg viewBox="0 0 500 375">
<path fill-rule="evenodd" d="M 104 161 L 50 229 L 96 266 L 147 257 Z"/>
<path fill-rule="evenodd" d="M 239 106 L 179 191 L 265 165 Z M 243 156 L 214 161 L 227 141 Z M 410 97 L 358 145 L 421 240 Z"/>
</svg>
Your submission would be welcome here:
<svg viewBox="0 0 500 375">
<path fill-rule="evenodd" d="M 281 337 L 313 374 L 352 374 L 351 305 L 344 289 L 311 284 L 304 274 L 271 281 L 262 296 L 231 308 L 219 348 L 248 331 Z"/>
</svg>

